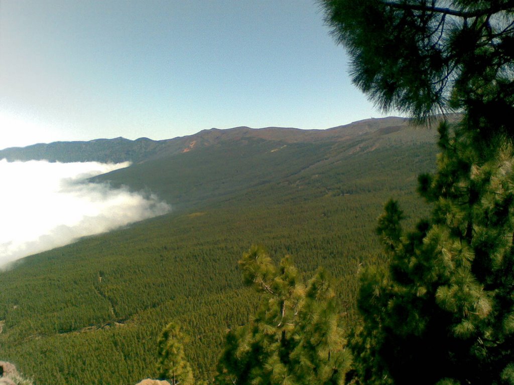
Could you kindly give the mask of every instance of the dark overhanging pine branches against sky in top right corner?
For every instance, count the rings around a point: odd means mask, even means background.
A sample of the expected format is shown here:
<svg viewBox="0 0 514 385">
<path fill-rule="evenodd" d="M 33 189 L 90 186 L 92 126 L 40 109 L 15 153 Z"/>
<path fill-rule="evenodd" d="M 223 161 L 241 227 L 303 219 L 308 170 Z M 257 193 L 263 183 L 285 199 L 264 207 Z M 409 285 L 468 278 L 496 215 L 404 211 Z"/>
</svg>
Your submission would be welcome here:
<svg viewBox="0 0 514 385">
<path fill-rule="evenodd" d="M 483 137 L 512 133 L 511 0 L 320 3 L 350 54 L 353 82 L 380 108 L 417 119 L 465 110 Z"/>
</svg>

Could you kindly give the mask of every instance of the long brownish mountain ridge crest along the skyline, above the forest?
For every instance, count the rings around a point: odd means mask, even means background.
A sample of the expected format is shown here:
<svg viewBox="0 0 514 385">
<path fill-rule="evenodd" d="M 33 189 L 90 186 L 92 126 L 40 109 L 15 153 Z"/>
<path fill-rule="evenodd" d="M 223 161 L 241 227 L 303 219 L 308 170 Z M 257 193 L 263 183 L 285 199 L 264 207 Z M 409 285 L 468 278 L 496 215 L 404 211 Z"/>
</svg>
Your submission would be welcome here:
<svg viewBox="0 0 514 385">
<path fill-rule="evenodd" d="M 375 132 L 384 127 L 407 128 L 407 118 L 366 119 L 328 129 L 303 130 L 294 127 L 251 128 L 238 126 L 228 129 L 206 129 L 197 133 L 172 139 L 136 140 L 117 137 L 99 138 L 91 141 L 58 141 L 37 143 L 25 147 L 8 147 L 0 150 L 0 159 L 8 161 L 47 160 L 50 162 L 125 162 L 141 163 L 159 157 L 190 151 L 198 147 L 219 144 L 221 141 L 237 141 L 258 138 L 286 143 L 310 143 L 344 141 L 361 134 Z M 194 142 L 194 143 L 193 143 Z"/>
</svg>

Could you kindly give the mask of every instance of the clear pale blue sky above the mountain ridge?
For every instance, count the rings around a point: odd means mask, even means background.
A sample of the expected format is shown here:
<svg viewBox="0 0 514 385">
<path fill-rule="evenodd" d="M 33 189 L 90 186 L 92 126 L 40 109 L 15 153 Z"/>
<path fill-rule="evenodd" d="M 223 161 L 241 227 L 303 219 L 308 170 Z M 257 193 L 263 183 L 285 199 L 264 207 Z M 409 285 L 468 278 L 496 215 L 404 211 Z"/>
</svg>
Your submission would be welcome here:
<svg viewBox="0 0 514 385">
<path fill-rule="evenodd" d="M 0 148 L 382 116 L 311 0 L 0 0 Z"/>
</svg>

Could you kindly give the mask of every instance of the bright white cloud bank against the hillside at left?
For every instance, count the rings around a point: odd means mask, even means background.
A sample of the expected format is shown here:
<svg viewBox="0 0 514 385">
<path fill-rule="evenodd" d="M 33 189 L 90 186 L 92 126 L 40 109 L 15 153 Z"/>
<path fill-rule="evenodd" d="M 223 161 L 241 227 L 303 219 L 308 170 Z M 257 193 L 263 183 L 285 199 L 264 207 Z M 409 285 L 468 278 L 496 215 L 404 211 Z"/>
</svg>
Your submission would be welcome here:
<svg viewBox="0 0 514 385">
<path fill-rule="evenodd" d="M 86 180 L 129 165 L 0 160 L 0 266 L 168 213 L 155 196 Z"/>
</svg>

